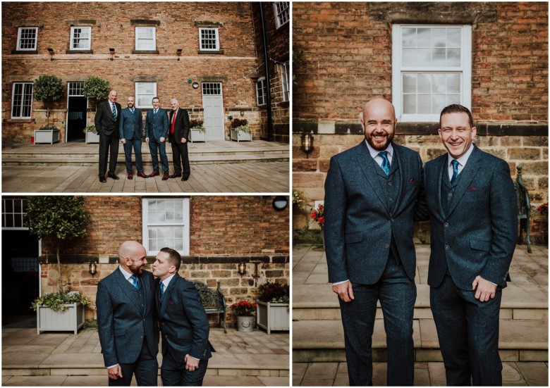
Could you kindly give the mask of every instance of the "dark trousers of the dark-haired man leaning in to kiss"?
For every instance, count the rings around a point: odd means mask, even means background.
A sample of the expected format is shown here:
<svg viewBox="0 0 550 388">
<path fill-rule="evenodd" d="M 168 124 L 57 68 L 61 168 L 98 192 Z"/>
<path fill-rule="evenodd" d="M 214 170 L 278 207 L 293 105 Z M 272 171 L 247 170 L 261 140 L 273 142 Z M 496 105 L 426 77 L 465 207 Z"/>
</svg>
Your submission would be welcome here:
<svg viewBox="0 0 550 388">
<path fill-rule="evenodd" d="M 200 360 L 199 368 L 190 372 L 185 369 L 185 361 L 176 361 L 170 351 L 162 356 L 161 379 L 165 387 L 201 387 L 208 368 L 208 360 Z"/>
</svg>

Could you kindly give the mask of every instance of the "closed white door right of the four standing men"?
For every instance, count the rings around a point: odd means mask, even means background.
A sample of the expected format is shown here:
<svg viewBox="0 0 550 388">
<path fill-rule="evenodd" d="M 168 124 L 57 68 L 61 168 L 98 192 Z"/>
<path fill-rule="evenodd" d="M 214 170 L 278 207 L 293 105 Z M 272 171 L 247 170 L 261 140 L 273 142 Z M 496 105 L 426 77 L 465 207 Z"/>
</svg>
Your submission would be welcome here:
<svg viewBox="0 0 550 388">
<path fill-rule="evenodd" d="M 202 108 L 207 140 L 224 140 L 224 99 L 220 82 L 202 82 Z"/>
</svg>

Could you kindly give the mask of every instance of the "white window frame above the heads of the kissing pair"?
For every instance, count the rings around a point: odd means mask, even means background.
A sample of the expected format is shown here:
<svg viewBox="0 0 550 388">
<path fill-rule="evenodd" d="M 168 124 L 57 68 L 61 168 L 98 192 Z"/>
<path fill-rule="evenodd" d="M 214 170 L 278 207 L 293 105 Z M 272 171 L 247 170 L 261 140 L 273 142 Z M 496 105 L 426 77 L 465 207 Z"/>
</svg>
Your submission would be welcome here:
<svg viewBox="0 0 550 388">
<path fill-rule="evenodd" d="M 182 221 L 176 223 L 152 223 L 149 222 L 149 204 L 151 201 L 172 201 L 175 204 L 178 204 L 181 201 L 181 211 L 183 214 Z M 154 198 L 143 198 L 142 199 L 142 235 L 143 235 L 143 246 L 147 250 L 147 255 L 156 255 L 159 253 L 160 249 L 163 246 L 157 246 L 158 249 L 149 248 L 149 227 L 152 226 L 166 226 L 166 227 L 181 227 L 183 230 L 183 249 L 176 249 L 182 256 L 189 256 L 190 252 L 190 210 L 189 210 L 189 198 L 178 198 L 178 197 L 154 197 Z M 169 248 L 175 249 L 174 246 L 169 246 Z"/>
</svg>

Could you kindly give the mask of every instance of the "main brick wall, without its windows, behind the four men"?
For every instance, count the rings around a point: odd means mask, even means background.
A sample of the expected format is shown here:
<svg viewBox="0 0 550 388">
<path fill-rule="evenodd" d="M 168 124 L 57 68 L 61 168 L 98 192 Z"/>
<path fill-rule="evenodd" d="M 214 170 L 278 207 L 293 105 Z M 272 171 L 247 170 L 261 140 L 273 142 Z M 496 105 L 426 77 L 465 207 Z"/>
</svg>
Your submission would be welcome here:
<svg viewBox="0 0 550 388">
<path fill-rule="evenodd" d="M 121 12 L 121 10 L 124 10 Z M 133 54 L 135 20 L 152 20 L 156 25 L 158 54 Z M 138 24 L 136 24 L 138 23 Z M 219 28 L 223 54 L 199 54 L 198 27 L 213 23 Z M 18 27 L 44 26 L 38 30 L 37 54 L 12 54 Z M 92 27 L 92 53 L 67 54 L 71 25 Z M 202 92 L 193 81 L 221 82 L 224 97 L 226 138 L 230 122 L 227 115 L 246 112 L 254 136 L 259 137 L 260 117 L 255 101 L 255 84 L 250 78 L 257 68 L 257 51 L 249 3 L 12 3 L 2 4 L 2 138 L 30 142 L 33 130 L 47 123 L 44 104 L 34 101 L 30 120 L 11 119 L 13 82 L 32 82 L 39 75 L 56 75 L 66 82 L 82 82 L 91 75 L 108 80 L 118 92 L 118 102 L 126 106 L 128 95 L 135 94 L 135 82 L 157 82 L 161 106 L 178 98 L 183 108 L 195 109 L 202 118 Z M 47 48 L 54 50 L 50 61 Z M 109 48 L 115 49 L 109 61 Z M 176 49 L 182 49 L 180 60 Z M 52 106 L 51 121 L 64 128 L 66 94 Z M 93 105 L 93 104 L 92 104 Z M 93 111 L 93 108 L 92 108 Z M 89 112 L 88 124 L 94 113 Z M 288 130 L 287 130 L 288 132 Z"/>
</svg>

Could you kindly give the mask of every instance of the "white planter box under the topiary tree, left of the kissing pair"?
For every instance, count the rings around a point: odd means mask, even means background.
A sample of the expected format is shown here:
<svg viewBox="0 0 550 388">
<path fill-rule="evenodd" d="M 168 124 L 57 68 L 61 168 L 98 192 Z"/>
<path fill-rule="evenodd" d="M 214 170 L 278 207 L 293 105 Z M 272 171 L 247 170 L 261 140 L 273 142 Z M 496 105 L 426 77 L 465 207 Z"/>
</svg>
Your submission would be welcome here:
<svg viewBox="0 0 550 388">
<path fill-rule="evenodd" d="M 84 326 L 84 305 L 66 304 L 66 311 L 53 311 L 49 307 L 36 306 L 37 334 L 40 332 L 78 332 Z"/>
</svg>

